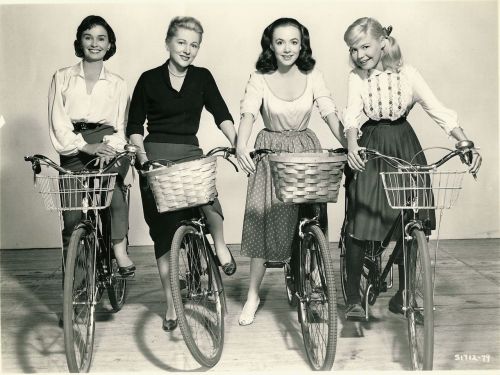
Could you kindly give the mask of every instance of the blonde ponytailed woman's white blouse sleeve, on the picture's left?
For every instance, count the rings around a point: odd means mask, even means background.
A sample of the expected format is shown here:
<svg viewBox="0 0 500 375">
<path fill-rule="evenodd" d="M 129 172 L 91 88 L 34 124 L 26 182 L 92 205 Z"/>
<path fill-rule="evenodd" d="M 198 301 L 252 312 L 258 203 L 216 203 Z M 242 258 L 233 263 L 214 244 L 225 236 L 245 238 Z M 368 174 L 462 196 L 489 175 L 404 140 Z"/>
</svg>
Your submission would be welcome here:
<svg viewBox="0 0 500 375">
<path fill-rule="evenodd" d="M 347 107 L 343 111 L 341 118 L 344 125 L 344 132 L 348 129 L 358 129 L 358 136 L 361 135 L 361 125 L 363 125 L 368 117 L 363 111 L 362 80 L 355 72 L 349 74 Z"/>
</svg>

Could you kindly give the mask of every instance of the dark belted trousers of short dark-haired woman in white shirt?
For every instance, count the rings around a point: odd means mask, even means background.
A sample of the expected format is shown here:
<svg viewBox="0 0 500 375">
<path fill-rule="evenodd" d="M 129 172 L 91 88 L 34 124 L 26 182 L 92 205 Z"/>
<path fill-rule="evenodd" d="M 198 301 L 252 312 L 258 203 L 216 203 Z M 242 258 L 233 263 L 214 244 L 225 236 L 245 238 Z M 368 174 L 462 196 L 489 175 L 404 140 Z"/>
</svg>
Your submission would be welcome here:
<svg viewBox="0 0 500 375">
<path fill-rule="evenodd" d="M 103 125 L 95 129 L 82 130 L 81 134 L 87 143 L 102 142 L 105 135 L 114 133 L 112 126 Z M 71 171 L 79 171 L 83 168 L 98 169 L 99 165 L 94 166 L 95 156 L 79 152 L 77 155 L 60 156 L 60 164 L 63 168 Z M 120 166 L 114 166 L 108 173 L 118 173 L 116 178 L 115 189 L 111 199 L 111 238 L 113 240 L 121 240 L 127 236 L 129 228 L 128 219 L 128 203 L 126 197 L 126 188 L 124 187 L 124 179 L 127 175 L 130 163 L 128 159 L 121 159 Z M 69 237 L 82 218 L 81 211 L 63 211 L 63 246 L 66 247 L 69 243 Z"/>
</svg>

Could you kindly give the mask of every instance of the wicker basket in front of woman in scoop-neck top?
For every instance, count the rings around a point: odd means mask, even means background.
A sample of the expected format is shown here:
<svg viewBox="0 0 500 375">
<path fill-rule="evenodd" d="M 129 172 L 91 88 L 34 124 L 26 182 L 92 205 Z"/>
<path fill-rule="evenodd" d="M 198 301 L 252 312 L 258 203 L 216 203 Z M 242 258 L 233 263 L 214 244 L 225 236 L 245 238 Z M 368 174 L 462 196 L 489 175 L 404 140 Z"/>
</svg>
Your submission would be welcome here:
<svg viewBox="0 0 500 375">
<path fill-rule="evenodd" d="M 328 153 L 270 155 L 276 196 L 284 203 L 336 202 L 346 161 Z"/>
</svg>

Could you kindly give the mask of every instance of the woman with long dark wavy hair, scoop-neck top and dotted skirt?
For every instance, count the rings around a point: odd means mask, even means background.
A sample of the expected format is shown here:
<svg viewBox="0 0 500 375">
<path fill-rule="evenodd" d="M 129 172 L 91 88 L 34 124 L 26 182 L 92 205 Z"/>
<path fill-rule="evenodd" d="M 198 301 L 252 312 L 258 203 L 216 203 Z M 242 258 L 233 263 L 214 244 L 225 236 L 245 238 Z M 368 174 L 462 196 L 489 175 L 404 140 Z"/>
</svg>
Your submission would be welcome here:
<svg viewBox="0 0 500 375">
<path fill-rule="evenodd" d="M 321 145 L 307 127 L 316 104 L 332 133 L 344 143 L 330 91 L 314 68 L 307 28 L 293 18 L 277 19 L 264 30 L 261 46 L 257 71 L 251 74 L 241 101 L 236 151 L 242 169 L 250 174 L 241 244 L 241 253 L 251 257 L 250 286 L 240 325 L 254 320 L 264 262 L 290 258 L 298 219 L 297 205 L 277 200 L 267 159 L 255 166 L 249 155 L 247 143 L 253 123 L 260 113 L 265 128 L 257 135 L 256 149 L 314 152 Z"/>
</svg>

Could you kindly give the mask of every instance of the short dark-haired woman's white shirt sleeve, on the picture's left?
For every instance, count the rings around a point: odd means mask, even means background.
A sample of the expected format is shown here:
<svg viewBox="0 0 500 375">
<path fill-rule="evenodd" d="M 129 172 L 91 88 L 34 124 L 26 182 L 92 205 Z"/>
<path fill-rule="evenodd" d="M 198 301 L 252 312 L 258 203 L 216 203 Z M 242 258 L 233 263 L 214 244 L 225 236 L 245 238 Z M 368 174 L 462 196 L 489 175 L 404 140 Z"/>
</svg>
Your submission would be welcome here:
<svg viewBox="0 0 500 375">
<path fill-rule="evenodd" d="M 73 133 L 73 124 L 65 111 L 62 86 L 64 75 L 56 72 L 49 89 L 49 134 L 52 145 L 61 155 L 75 155 L 87 144 L 81 134 Z"/>
</svg>

